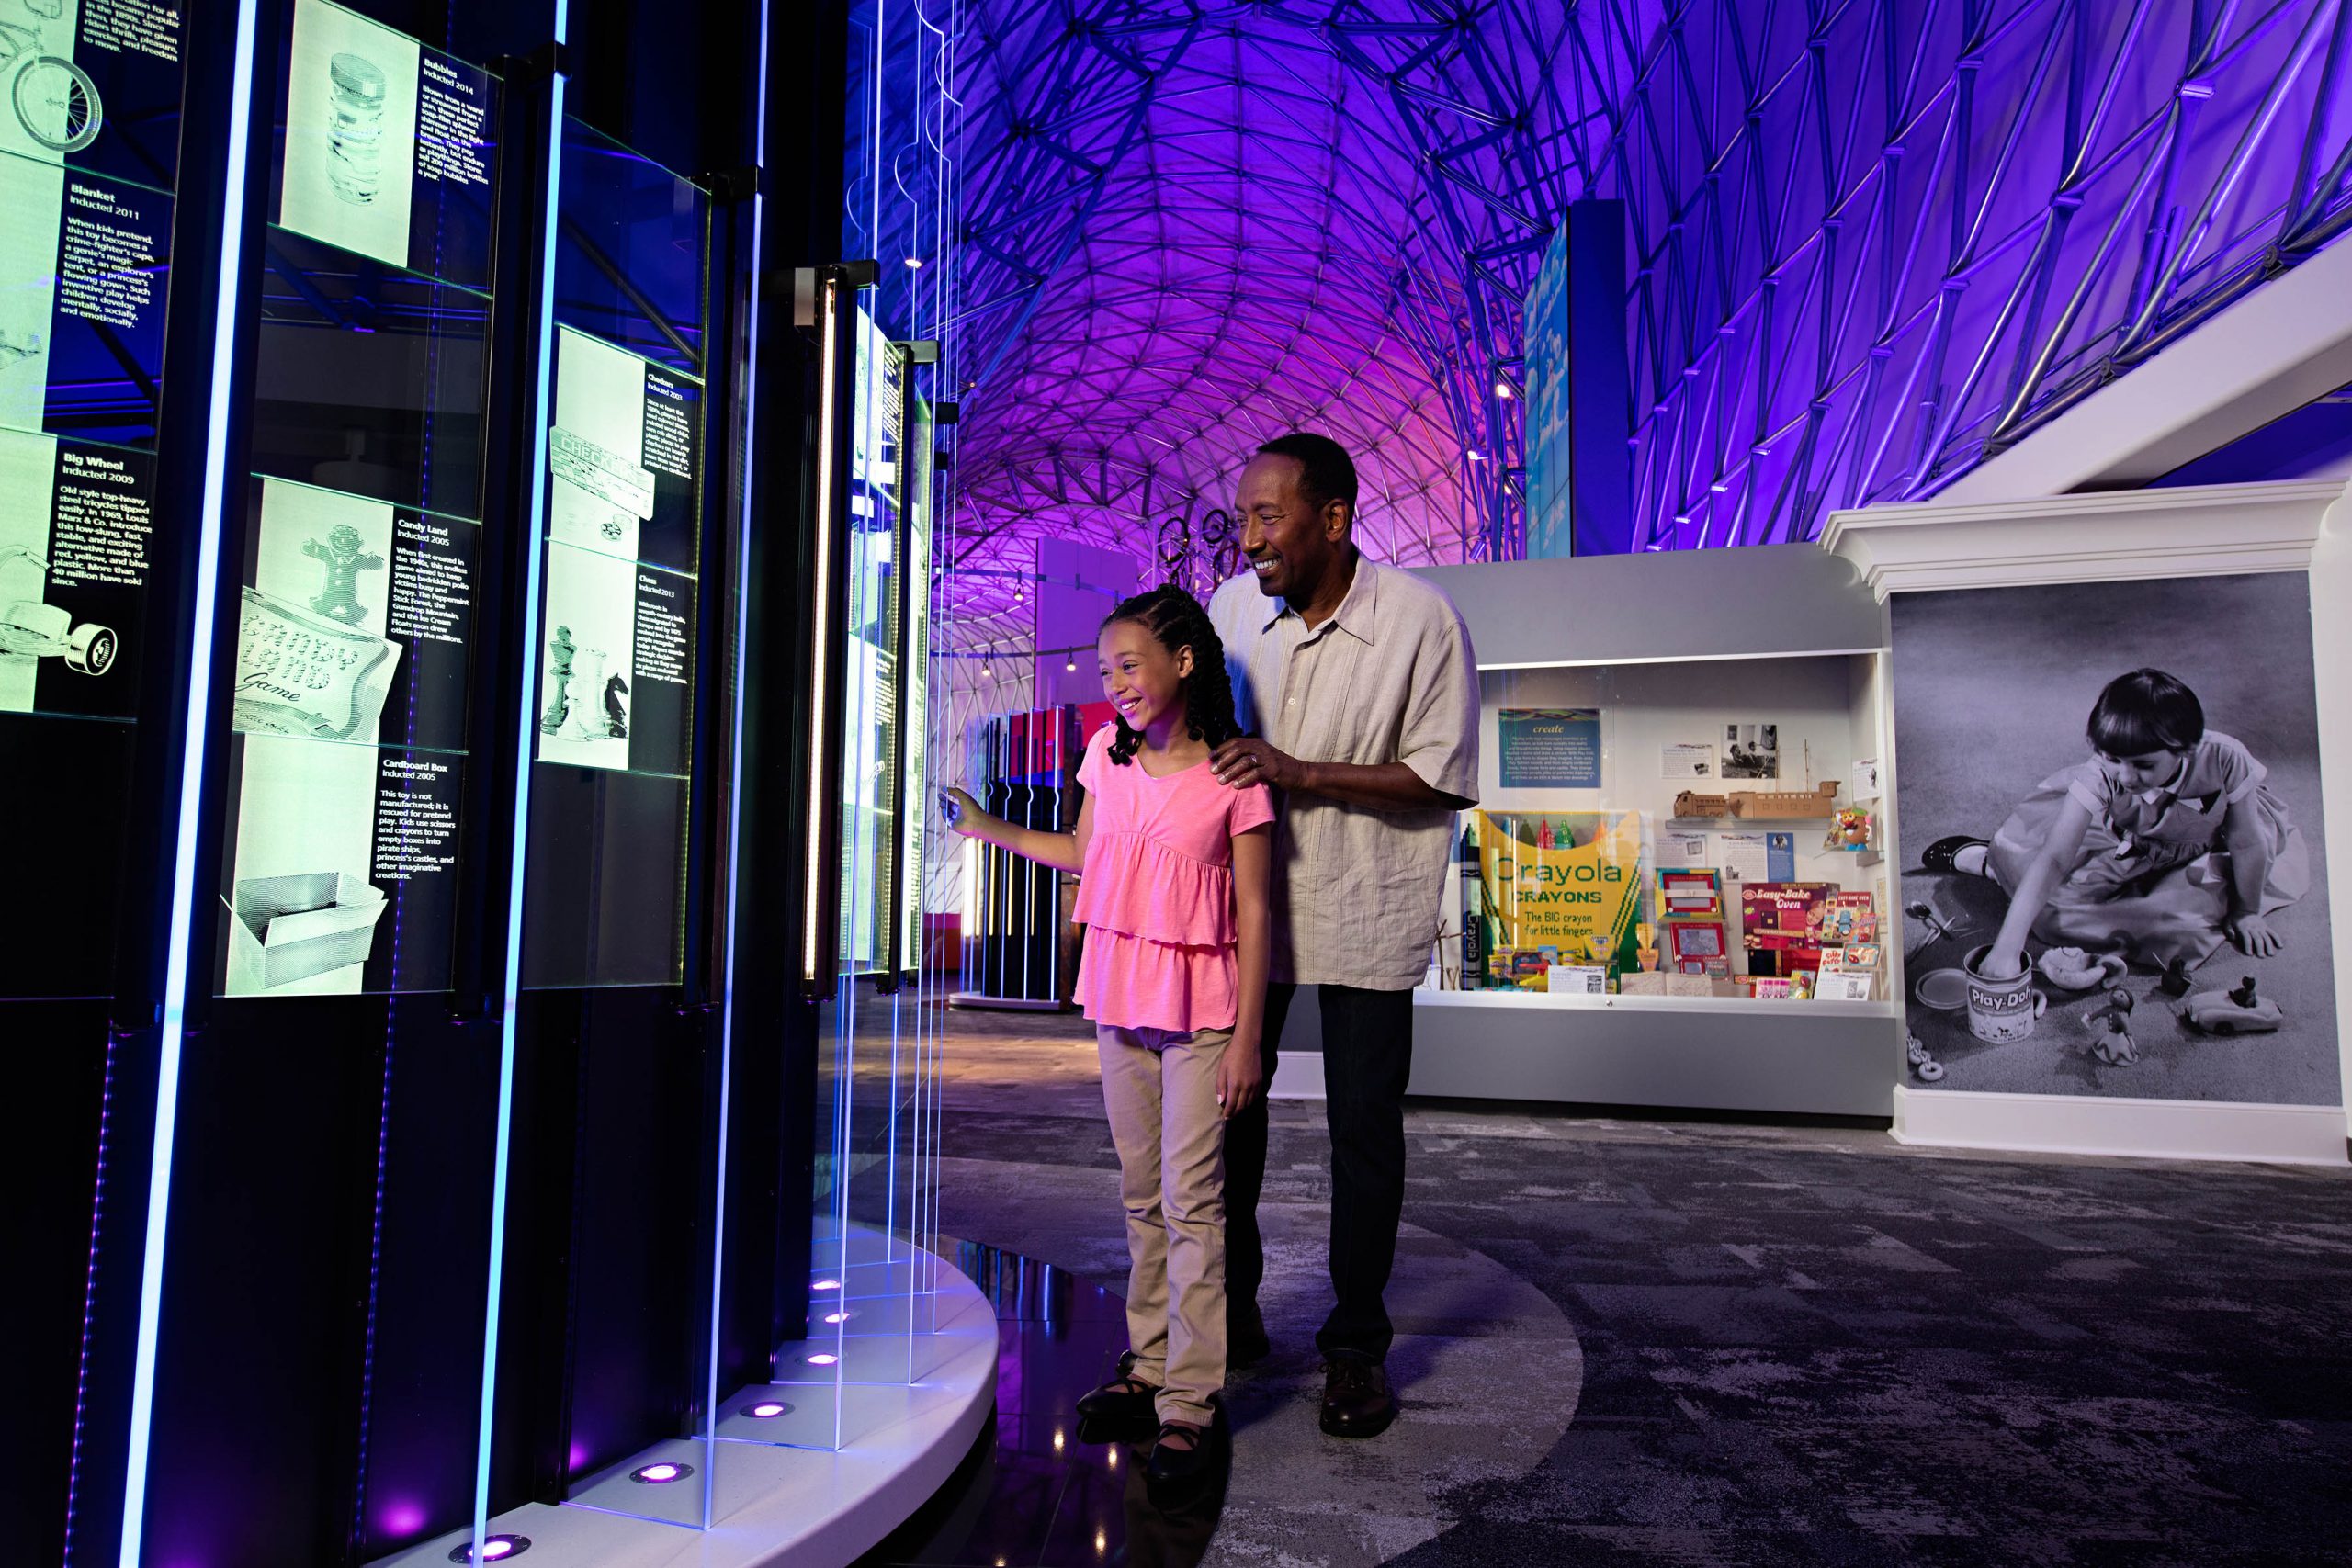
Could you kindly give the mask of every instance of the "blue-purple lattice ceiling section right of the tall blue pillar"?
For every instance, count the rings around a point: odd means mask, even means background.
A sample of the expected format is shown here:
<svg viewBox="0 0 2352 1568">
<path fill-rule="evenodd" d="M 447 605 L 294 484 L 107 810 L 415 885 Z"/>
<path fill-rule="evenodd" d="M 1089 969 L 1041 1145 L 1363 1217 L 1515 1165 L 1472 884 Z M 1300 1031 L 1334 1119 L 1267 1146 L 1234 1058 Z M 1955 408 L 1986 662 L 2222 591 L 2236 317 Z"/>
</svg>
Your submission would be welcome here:
<svg viewBox="0 0 2352 1568">
<path fill-rule="evenodd" d="M 1651 548 L 1924 498 L 2352 223 L 2352 7 L 1691 5 L 1611 110 Z"/>
</svg>

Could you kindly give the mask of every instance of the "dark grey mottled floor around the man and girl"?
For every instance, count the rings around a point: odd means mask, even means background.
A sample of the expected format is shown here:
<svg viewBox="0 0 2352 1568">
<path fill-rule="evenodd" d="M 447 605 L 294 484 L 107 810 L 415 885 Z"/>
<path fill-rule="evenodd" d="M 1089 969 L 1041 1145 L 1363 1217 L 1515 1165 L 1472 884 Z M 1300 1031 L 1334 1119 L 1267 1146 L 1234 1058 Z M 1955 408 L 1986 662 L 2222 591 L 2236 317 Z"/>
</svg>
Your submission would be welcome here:
<svg viewBox="0 0 2352 1568">
<path fill-rule="evenodd" d="M 948 1027 L 943 1227 L 1070 1295 L 1004 1319 L 988 1552 L 887 1561 L 1157 1561 L 1131 1458 L 1056 1427 L 1120 1349 L 1091 1037 Z M 1275 1354 L 1228 1385 L 1211 1566 L 2352 1561 L 2343 1168 L 1463 1105 L 1416 1105 L 1409 1145 L 1404 1418 L 1343 1443 L 1315 1429 L 1319 1107 L 1275 1107 Z"/>
</svg>

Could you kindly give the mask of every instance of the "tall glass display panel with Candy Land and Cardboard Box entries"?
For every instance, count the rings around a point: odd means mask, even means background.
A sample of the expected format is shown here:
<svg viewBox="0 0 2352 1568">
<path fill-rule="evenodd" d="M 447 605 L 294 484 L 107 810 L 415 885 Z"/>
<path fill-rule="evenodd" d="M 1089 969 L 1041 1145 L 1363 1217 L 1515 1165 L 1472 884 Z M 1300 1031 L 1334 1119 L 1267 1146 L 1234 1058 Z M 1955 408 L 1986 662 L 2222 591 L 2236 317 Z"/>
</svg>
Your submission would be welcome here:
<svg viewBox="0 0 2352 1568">
<path fill-rule="evenodd" d="M 456 950 L 499 82 L 325 0 L 296 0 L 287 28 L 235 656 L 216 672 L 214 987 L 433 992 Z M 358 115 L 353 82 L 381 115 Z M 393 219 L 419 242 L 390 244 Z"/>
</svg>

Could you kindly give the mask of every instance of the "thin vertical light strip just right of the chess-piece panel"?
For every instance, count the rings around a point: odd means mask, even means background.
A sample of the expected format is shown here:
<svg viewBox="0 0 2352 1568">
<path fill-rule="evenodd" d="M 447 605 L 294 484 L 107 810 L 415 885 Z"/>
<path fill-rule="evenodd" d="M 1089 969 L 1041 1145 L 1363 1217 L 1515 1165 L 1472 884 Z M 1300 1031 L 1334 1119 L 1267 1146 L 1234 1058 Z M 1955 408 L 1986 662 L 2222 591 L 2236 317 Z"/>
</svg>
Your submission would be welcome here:
<svg viewBox="0 0 2352 1568">
<path fill-rule="evenodd" d="M 767 200 L 760 193 L 760 181 L 767 179 L 767 0 L 760 0 L 760 63 L 755 68 L 757 85 L 753 87 L 753 188 L 750 188 L 750 266 L 746 277 L 750 287 L 743 292 L 743 421 L 736 425 L 741 430 L 739 440 L 746 449 L 757 433 L 760 395 L 760 205 Z M 713 1185 L 710 1206 L 710 1352 L 708 1366 L 710 1378 L 703 1387 L 703 1526 L 710 1526 L 713 1488 L 717 1486 L 717 1465 L 710 1462 L 713 1446 L 717 1443 L 720 1425 L 720 1281 L 727 1276 L 727 1119 L 734 1110 L 734 978 L 736 978 L 736 879 L 743 865 L 743 649 L 750 646 L 750 517 L 753 517 L 753 482 L 750 465 L 743 465 L 743 515 L 736 520 L 736 668 L 734 668 L 734 736 L 731 755 L 727 759 L 727 959 L 724 959 L 724 985 L 727 994 L 720 997 L 720 1147 L 717 1147 L 717 1182 Z"/>
</svg>

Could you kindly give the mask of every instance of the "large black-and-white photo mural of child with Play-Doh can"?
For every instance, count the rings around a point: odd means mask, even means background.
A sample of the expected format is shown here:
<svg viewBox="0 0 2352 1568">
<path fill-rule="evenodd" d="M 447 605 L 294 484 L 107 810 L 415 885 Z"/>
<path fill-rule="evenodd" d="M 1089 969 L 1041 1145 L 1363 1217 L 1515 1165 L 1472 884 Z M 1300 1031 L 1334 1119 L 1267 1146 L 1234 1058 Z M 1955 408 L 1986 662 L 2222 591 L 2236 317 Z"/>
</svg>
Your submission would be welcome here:
<svg viewBox="0 0 2352 1568">
<path fill-rule="evenodd" d="M 2338 1100 L 2310 628 L 2298 574 L 1896 597 L 1938 1086 Z"/>
</svg>

